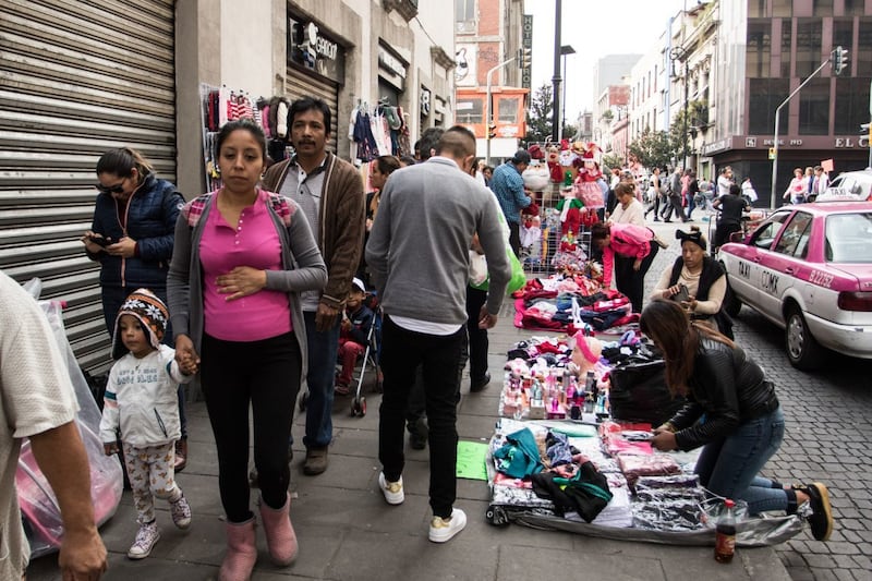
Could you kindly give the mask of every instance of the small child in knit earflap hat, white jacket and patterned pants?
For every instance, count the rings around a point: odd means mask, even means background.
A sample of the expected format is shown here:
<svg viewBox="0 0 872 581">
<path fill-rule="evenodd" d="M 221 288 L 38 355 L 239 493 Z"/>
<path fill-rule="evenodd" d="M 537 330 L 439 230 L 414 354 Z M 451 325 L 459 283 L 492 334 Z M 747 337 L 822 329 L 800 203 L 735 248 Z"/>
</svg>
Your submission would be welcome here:
<svg viewBox="0 0 872 581">
<path fill-rule="evenodd" d="M 121 305 L 116 318 L 112 358 L 106 386 L 100 437 L 107 456 L 118 453 L 118 434 L 124 450 L 140 531 L 128 550 L 144 559 L 160 538 L 154 497 L 170 503 L 172 522 L 191 525 L 191 507 L 175 483 L 174 443 L 181 437 L 179 384 L 191 382 L 196 364 L 175 361 L 175 350 L 161 344 L 169 314 L 152 291 L 138 289 Z"/>
</svg>

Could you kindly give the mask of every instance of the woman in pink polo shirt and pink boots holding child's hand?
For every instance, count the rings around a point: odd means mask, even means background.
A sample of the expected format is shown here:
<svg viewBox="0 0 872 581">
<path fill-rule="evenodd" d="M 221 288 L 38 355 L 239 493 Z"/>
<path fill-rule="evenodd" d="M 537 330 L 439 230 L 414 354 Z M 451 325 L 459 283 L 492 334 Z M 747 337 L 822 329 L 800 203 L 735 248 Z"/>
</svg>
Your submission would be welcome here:
<svg viewBox="0 0 872 581">
<path fill-rule="evenodd" d="M 218 134 L 223 185 L 189 202 L 175 223 L 167 278 L 175 358 L 199 363 L 227 515 L 221 579 L 247 579 L 257 559 L 249 488 L 249 413 L 261 520 L 272 560 L 296 557 L 290 520 L 288 439 L 306 332 L 299 294 L 320 290 L 327 268 L 300 206 L 257 184 L 266 138 L 250 120 Z"/>
</svg>

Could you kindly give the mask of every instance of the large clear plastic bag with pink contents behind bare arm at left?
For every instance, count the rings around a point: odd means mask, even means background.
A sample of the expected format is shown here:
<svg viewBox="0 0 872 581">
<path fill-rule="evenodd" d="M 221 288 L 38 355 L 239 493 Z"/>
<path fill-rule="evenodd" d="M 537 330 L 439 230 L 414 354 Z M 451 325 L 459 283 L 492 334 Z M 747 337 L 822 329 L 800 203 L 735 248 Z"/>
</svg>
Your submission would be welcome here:
<svg viewBox="0 0 872 581">
<path fill-rule="evenodd" d="M 38 299 L 40 282 L 36 279 L 25 288 Z M 46 313 L 55 340 L 66 360 L 66 368 L 78 400 L 78 414 L 75 422 L 85 445 L 90 469 L 90 496 L 97 525 L 108 521 L 121 501 L 123 475 L 118 456 L 106 456 L 99 437 L 100 410 L 90 394 L 88 384 L 75 360 L 66 340 L 61 316 L 61 303 L 39 301 Z M 48 481 L 36 463 L 31 441 L 22 443 L 19 469 L 15 473 L 15 488 L 22 512 L 22 523 L 31 544 L 31 556 L 39 557 L 58 550 L 63 535 L 60 507 Z"/>
</svg>

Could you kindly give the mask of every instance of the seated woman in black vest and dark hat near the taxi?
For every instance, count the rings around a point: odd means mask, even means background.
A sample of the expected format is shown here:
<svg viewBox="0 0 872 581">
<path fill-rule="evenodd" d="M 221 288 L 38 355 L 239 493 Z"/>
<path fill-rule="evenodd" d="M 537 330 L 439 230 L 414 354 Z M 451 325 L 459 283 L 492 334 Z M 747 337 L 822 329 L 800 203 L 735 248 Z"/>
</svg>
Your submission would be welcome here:
<svg viewBox="0 0 872 581">
<path fill-rule="evenodd" d="M 679 300 L 683 285 L 689 296 L 680 303 L 690 318 L 732 339 L 732 320 L 723 310 L 727 293 L 724 267 L 705 252 L 705 238 L 699 228 L 693 227 L 690 232 L 676 230 L 675 238 L 681 241 L 681 256 L 663 271 L 651 298 Z"/>
</svg>

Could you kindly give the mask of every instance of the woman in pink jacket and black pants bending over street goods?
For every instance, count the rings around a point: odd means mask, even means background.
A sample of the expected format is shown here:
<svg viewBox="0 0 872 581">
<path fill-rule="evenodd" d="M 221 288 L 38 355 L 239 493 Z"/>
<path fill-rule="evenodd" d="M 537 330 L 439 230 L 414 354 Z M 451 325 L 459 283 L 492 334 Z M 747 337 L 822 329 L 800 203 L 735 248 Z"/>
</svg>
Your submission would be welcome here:
<svg viewBox="0 0 872 581">
<path fill-rule="evenodd" d="M 654 232 L 634 223 L 595 223 L 591 227 L 591 243 L 603 251 L 604 288 L 611 286 L 616 255 L 632 261 L 630 268 L 615 269 L 615 288 L 630 299 L 633 313 L 641 313 L 645 273 L 659 251 Z"/>
</svg>

